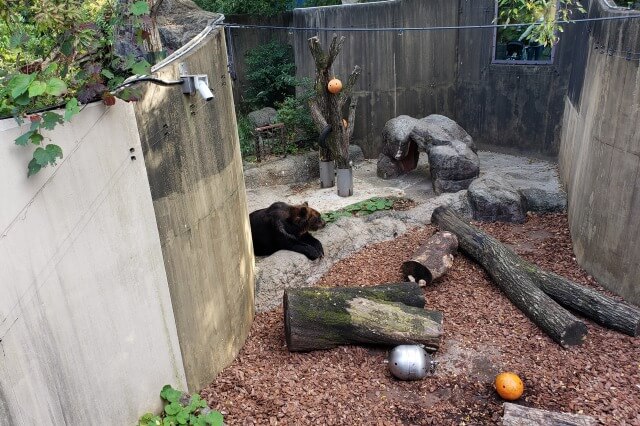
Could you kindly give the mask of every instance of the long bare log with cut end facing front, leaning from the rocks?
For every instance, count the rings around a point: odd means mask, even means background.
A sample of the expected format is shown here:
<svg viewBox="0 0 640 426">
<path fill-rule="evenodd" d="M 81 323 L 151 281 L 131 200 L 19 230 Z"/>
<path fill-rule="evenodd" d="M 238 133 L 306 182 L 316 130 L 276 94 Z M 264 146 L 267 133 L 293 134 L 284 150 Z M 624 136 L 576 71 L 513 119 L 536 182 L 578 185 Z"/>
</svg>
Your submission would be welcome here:
<svg viewBox="0 0 640 426">
<path fill-rule="evenodd" d="M 511 249 L 474 226 L 451 209 L 438 207 L 431 216 L 438 229 L 456 234 L 460 249 L 481 264 L 493 281 L 529 319 L 563 347 L 581 344 L 587 326 L 546 295 Z"/>
</svg>

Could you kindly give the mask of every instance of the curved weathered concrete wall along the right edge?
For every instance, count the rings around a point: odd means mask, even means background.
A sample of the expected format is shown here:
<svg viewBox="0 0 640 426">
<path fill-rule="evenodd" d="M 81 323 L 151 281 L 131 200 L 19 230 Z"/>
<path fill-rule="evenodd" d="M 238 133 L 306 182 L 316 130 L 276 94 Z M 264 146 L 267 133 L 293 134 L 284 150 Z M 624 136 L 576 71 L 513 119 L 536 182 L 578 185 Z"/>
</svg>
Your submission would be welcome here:
<svg viewBox="0 0 640 426">
<path fill-rule="evenodd" d="M 590 17 L 635 14 L 595 0 Z M 640 22 L 595 22 L 577 48 L 559 162 L 578 262 L 640 305 Z M 636 52 L 627 60 L 626 52 Z"/>
</svg>

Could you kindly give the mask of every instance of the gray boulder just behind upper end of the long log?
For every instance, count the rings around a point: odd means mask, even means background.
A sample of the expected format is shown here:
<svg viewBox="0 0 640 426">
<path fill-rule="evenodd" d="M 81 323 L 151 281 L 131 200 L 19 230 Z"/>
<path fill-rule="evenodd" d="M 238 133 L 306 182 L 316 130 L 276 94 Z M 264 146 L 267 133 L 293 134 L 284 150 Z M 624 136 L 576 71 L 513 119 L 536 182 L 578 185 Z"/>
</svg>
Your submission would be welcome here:
<svg viewBox="0 0 640 426">
<path fill-rule="evenodd" d="M 473 218 L 488 222 L 523 223 L 526 218 L 522 194 L 506 179 L 487 173 L 474 180 L 467 192 Z"/>
</svg>

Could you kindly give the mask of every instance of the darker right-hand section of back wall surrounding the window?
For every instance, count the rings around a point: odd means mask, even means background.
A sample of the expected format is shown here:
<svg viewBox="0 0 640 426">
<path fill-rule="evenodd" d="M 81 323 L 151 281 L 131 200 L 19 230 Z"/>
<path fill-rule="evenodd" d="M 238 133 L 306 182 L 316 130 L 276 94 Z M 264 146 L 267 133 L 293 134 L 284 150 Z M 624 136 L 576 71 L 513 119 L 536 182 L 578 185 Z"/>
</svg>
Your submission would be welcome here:
<svg viewBox="0 0 640 426">
<path fill-rule="evenodd" d="M 493 0 L 458 3 L 459 25 L 492 23 Z M 481 148 L 557 156 L 564 95 L 580 27 L 565 27 L 551 65 L 492 64 L 494 29 L 459 30 L 452 118 Z"/>
</svg>

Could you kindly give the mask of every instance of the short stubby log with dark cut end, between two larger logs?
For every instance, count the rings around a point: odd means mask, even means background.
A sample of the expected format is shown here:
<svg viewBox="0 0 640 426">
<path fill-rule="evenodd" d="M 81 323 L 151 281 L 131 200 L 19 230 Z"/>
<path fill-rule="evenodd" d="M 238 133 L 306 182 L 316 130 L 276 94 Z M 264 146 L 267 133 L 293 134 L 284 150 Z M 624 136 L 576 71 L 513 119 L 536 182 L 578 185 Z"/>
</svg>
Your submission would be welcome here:
<svg viewBox="0 0 640 426">
<path fill-rule="evenodd" d="M 451 232 L 436 232 L 402 264 L 405 278 L 409 275 L 427 284 L 442 277 L 453 265 L 453 255 L 458 250 L 458 239 Z"/>
</svg>

